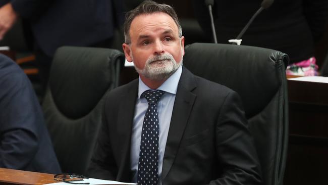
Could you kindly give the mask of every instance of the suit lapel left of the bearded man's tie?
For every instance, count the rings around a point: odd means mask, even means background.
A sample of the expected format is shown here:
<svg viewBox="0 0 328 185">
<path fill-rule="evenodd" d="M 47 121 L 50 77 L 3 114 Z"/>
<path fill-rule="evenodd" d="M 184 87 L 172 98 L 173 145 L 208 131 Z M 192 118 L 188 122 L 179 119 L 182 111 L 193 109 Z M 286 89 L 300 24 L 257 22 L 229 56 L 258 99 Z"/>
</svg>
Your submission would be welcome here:
<svg viewBox="0 0 328 185">
<path fill-rule="evenodd" d="M 133 117 L 135 111 L 135 103 L 138 95 L 138 80 L 134 80 L 130 85 L 128 92 L 122 97 L 122 102 L 118 111 L 117 122 L 117 141 L 123 146 L 120 155 L 122 156 L 121 164 L 119 165 L 118 179 L 121 181 L 130 181 L 130 147 L 131 147 L 131 132 L 133 125 Z"/>
</svg>

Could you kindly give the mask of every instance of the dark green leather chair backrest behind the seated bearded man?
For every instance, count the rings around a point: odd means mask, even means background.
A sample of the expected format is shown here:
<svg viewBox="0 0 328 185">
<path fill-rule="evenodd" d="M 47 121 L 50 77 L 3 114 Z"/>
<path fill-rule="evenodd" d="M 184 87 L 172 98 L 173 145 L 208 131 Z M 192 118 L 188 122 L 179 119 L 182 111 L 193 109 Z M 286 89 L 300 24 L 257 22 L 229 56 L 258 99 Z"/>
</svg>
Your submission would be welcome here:
<svg viewBox="0 0 328 185">
<path fill-rule="evenodd" d="M 263 184 L 283 184 L 288 145 L 288 56 L 264 48 L 213 43 L 193 43 L 185 52 L 183 64 L 191 72 L 241 96 Z"/>
</svg>

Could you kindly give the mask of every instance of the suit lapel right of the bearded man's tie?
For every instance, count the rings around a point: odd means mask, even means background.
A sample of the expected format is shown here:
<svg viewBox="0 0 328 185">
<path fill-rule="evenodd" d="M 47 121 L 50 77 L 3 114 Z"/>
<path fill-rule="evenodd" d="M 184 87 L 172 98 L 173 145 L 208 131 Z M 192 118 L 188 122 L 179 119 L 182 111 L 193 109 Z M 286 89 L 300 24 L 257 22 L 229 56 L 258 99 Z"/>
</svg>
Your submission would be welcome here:
<svg viewBox="0 0 328 185">
<path fill-rule="evenodd" d="M 168 140 L 163 157 L 162 181 L 168 175 L 177 155 L 181 138 L 187 125 L 196 95 L 191 91 L 196 88 L 194 75 L 183 68 L 174 102 Z"/>
</svg>

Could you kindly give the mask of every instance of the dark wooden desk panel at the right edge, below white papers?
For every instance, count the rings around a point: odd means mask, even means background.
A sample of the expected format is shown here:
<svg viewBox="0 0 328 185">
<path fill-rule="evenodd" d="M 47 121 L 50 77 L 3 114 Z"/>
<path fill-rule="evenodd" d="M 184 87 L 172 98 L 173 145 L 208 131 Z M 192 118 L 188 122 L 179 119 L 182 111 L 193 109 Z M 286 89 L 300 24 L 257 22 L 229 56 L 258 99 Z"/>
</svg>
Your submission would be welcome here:
<svg viewBox="0 0 328 185">
<path fill-rule="evenodd" d="M 328 184 L 328 84 L 288 80 L 285 185 Z"/>
</svg>

